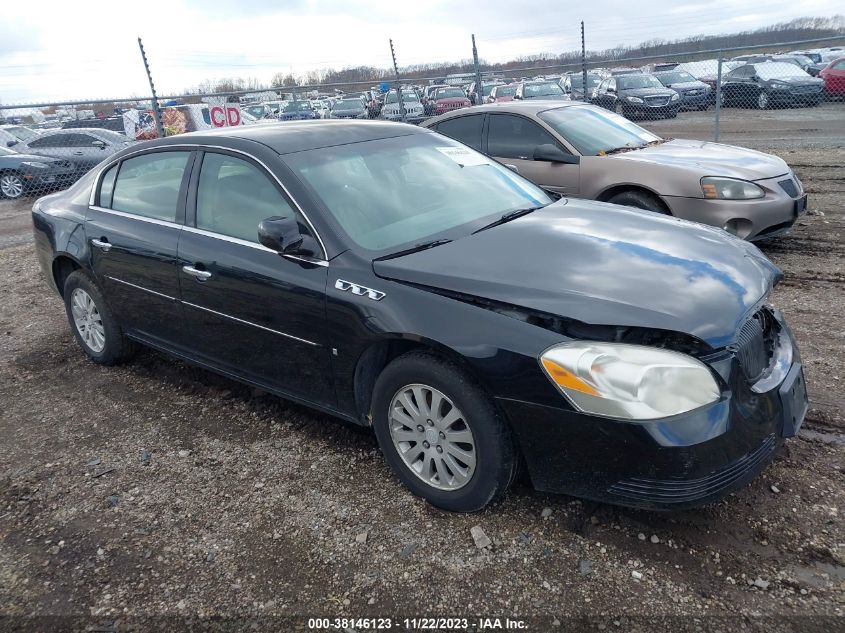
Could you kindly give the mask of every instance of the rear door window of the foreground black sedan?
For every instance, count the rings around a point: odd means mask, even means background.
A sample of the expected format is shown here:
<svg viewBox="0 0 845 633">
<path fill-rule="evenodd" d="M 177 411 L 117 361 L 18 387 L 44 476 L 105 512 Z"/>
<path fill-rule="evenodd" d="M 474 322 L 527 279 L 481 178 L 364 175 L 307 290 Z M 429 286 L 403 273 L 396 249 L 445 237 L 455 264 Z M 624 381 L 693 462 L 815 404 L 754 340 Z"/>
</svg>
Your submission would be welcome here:
<svg viewBox="0 0 845 633">
<path fill-rule="evenodd" d="M 190 152 L 156 152 L 127 158 L 115 179 L 111 208 L 175 222 L 179 188 L 190 155 Z"/>
</svg>

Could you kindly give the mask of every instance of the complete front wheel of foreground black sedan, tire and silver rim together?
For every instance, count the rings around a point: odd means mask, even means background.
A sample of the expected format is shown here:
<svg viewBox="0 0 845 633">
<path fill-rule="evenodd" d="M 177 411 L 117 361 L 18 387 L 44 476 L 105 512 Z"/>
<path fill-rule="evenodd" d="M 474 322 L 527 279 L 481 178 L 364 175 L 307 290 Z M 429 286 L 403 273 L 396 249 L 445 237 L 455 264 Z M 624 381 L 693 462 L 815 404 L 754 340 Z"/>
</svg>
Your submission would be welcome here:
<svg viewBox="0 0 845 633">
<path fill-rule="evenodd" d="M 492 398 L 452 362 L 429 352 L 400 356 L 376 381 L 372 406 L 376 438 L 391 470 L 438 508 L 481 510 L 516 477 L 517 451 L 507 422 Z"/>
</svg>

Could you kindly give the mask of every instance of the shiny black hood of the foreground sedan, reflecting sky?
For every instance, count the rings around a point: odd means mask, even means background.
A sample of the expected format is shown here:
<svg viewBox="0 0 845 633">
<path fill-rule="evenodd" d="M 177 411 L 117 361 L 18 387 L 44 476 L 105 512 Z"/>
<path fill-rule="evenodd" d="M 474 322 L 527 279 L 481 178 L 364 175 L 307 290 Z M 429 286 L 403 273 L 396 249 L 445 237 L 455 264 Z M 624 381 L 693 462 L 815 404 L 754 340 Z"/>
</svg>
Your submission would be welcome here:
<svg viewBox="0 0 845 633">
<path fill-rule="evenodd" d="M 733 340 L 781 276 L 757 247 L 719 229 L 583 200 L 373 268 L 584 323 L 684 332 L 713 347 Z"/>
</svg>

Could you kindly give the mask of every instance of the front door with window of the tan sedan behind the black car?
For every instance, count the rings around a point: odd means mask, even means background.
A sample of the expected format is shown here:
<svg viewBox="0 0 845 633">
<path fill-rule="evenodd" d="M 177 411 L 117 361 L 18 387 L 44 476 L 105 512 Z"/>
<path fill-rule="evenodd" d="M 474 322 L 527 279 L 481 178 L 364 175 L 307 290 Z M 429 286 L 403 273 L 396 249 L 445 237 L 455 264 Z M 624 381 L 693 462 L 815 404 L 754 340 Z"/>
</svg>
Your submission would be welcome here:
<svg viewBox="0 0 845 633">
<path fill-rule="evenodd" d="M 556 193 L 577 195 L 580 166 L 534 160 L 538 145 L 551 144 L 566 154 L 571 152 L 540 124 L 516 114 L 490 114 L 487 120 L 486 154 L 516 168 L 534 184 Z"/>
</svg>

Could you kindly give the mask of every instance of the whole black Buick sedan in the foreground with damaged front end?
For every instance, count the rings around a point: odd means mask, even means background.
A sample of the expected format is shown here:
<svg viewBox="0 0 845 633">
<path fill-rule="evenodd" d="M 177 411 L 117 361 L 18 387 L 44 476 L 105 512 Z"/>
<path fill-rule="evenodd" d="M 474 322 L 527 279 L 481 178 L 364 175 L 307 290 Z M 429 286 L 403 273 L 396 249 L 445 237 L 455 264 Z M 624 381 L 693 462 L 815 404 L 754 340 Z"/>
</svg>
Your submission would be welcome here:
<svg viewBox="0 0 845 633">
<path fill-rule="evenodd" d="M 542 490 L 699 504 L 749 481 L 807 407 L 756 247 L 555 201 L 410 125 L 151 141 L 33 222 L 93 361 L 147 345 L 372 426 L 450 510 L 501 496 L 523 461 Z"/>
</svg>

